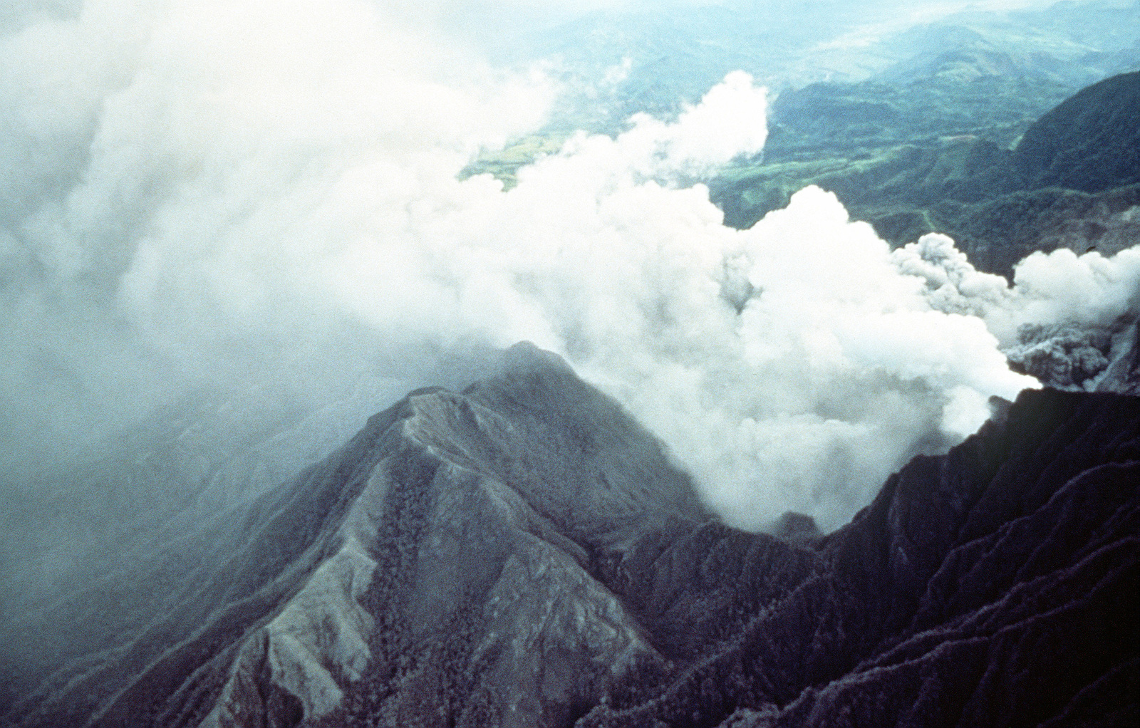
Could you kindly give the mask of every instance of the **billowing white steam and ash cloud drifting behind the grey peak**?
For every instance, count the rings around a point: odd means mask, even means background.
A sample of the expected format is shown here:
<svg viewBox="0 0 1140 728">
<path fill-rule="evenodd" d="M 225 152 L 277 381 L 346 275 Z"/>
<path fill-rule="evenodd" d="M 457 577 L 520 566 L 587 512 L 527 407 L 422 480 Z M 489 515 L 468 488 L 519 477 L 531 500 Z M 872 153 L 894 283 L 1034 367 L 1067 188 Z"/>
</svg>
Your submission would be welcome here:
<svg viewBox="0 0 1140 728">
<path fill-rule="evenodd" d="M 1135 256 L 1033 259 L 1011 292 L 944 239 L 891 254 L 814 188 L 725 228 L 690 182 L 764 144 L 742 73 L 671 123 L 573 137 L 504 193 L 456 175 L 542 123 L 542 76 L 361 0 L 117 6 L 0 41 L 11 401 L 44 357 L 106 410 L 155 382 L 319 384 L 352 362 L 394 392 L 448 352 L 530 340 L 659 433 L 731 523 L 832 527 L 1035 385 L 999 337 L 1135 305 Z M 1065 267 L 1084 288 L 1042 283 Z"/>
</svg>

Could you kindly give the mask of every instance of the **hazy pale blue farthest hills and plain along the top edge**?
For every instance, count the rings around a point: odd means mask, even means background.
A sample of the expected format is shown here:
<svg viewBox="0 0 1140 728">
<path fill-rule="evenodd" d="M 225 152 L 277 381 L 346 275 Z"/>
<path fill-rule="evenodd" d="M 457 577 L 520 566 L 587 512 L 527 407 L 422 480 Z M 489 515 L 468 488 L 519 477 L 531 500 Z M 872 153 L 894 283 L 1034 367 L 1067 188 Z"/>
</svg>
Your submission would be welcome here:
<svg viewBox="0 0 1140 728">
<path fill-rule="evenodd" d="M 881 7 L 879 7 L 881 6 Z M 635 112 L 695 103 L 731 71 L 774 92 L 817 82 L 1025 79 L 1036 117 L 1109 75 L 1140 69 L 1140 6 L 1112 0 L 1048 9 L 967 10 L 929 22 L 891 3 L 756 2 L 596 11 L 507 34 L 504 63 L 543 60 L 567 83 L 552 126 L 612 131 Z M 614 69 L 621 69 L 614 76 Z M 999 105 L 1031 99 L 990 97 Z"/>
</svg>

